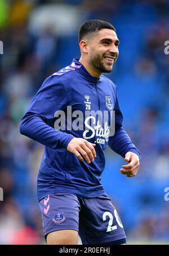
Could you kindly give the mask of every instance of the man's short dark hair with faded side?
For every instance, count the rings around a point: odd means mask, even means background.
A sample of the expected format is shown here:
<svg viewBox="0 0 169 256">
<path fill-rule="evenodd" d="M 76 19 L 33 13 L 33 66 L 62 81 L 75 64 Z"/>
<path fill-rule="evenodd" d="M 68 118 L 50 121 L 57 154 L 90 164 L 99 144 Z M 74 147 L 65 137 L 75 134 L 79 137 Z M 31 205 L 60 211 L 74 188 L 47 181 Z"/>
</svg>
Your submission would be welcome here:
<svg viewBox="0 0 169 256">
<path fill-rule="evenodd" d="M 103 20 L 88 20 L 82 24 L 81 28 L 79 29 L 79 42 L 92 33 L 96 33 L 101 29 L 108 28 L 112 29 L 115 32 L 115 28 L 112 24 L 103 21 Z"/>
</svg>

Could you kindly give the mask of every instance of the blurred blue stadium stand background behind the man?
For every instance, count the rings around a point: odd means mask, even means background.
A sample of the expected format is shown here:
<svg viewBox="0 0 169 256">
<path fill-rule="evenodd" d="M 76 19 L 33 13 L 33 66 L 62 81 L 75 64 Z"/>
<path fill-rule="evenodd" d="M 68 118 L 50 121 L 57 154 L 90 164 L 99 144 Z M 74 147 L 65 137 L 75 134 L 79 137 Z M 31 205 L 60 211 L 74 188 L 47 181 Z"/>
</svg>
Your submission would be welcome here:
<svg viewBox="0 0 169 256">
<path fill-rule="evenodd" d="M 117 29 L 120 55 L 108 76 L 142 154 L 130 179 L 108 149 L 103 184 L 129 244 L 169 244 L 168 0 L 0 0 L 0 244 L 45 243 L 36 196 L 43 146 L 20 135 L 19 122 L 43 80 L 79 57 L 78 28 L 88 19 Z"/>
</svg>

